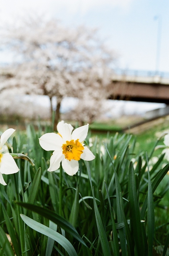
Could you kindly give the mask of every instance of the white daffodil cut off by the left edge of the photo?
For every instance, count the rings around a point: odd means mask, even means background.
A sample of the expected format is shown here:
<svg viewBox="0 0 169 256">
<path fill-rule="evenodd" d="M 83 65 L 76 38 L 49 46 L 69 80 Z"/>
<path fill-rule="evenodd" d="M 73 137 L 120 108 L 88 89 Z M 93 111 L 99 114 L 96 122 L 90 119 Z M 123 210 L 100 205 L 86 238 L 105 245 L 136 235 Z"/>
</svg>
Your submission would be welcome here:
<svg viewBox="0 0 169 256">
<path fill-rule="evenodd" d="M 19 168 L 15 163 L 14 158 L 9 153 L 3 153 L 4 144 L 14 132 L 15 130 L 10 128 L 6 130 L 0 138 L 0 183 L 2 185 L 6 185 L 2 174 L 12 174 L 19 171 Z"/>
</svg>

